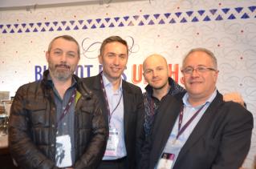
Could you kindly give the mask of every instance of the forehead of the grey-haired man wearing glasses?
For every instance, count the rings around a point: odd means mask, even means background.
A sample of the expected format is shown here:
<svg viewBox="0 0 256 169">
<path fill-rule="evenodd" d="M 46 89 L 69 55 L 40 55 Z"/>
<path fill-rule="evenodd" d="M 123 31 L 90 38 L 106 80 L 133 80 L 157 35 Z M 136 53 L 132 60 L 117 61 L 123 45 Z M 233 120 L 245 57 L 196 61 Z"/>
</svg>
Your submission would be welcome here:
<svg viewBox="0 0 256 169">
<path fill-rule="evenodd" d="M 203 51 L 194 51 L 185 58 L 185 66 L 205 65 L 210 66 L 213 64 L 212 58 Z"/>
</svg>

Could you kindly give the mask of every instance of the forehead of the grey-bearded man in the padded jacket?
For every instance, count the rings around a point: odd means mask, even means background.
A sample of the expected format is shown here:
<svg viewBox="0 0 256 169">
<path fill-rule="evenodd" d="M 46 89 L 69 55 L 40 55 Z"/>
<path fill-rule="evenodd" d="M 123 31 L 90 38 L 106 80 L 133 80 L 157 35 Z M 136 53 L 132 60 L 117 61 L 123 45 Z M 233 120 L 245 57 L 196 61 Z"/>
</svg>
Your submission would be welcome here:
<svg viewBox="0 0 256 169">
<path fill-rule="evenodd" d="M 64 38 L 57 38 L 52 42 L 51 49 L 59 48 L 62 50 L 78 50 L 78 46 L 73 41 L 68 41 Z"/>
</svg>

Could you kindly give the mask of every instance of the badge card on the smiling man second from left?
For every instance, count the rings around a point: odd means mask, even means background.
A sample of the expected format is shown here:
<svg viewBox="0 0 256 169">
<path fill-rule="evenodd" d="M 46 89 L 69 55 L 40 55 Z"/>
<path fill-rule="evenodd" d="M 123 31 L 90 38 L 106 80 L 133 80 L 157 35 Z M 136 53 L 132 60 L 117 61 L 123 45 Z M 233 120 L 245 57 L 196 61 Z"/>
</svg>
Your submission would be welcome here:
<svg viewBox="0 0 256 169">
<path fill-rule="evenodd" d="M 119 133 L 116 128 L 109 128 L 108 143 L 104 156 L 117 155 L 117 145 L 119 143 L 118 135 Z"/>
</svg>

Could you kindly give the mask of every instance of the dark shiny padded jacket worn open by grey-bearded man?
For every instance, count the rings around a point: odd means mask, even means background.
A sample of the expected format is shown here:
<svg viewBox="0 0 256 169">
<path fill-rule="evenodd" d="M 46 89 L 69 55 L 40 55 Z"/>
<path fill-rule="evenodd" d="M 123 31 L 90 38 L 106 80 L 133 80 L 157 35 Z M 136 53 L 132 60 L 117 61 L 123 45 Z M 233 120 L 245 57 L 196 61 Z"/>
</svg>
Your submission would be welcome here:
<svg viewBox="0 0 256 169">
<path fill-rule="evenodd" d="M 20 87 L 11 107 L 9 124 L 10 154 L 22 168 L 55 167 L 56 111 L 54 94 L 43 80 Z M 96 168 L 107 144 L 108 128 L 100 110 L 98 99 L 78 77 L 76 91 L 81 97 L 75 106 L 75 165 Z"/>
</svg>

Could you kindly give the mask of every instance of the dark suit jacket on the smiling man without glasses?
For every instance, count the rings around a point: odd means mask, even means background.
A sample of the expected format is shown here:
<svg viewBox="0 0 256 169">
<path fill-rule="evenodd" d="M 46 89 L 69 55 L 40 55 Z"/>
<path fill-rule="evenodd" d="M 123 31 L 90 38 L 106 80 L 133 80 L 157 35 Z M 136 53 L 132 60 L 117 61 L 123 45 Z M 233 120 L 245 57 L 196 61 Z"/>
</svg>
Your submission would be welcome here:
<svg viewBox="0 0 256 169">
<path fill-rule="evenodd" d="M 100 74 L 83 78 L 83 82 L 98 96 L 104 118 L 108 123 L 107 103 L 100 84 Z M 140 147 L 143 142 L 144 103 L 140 87 L 122 81 L 124 99 L 124 142 L 127 151 L 126 168 L 136 168 L 140 159 Z"/>
</svg>

